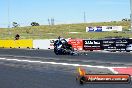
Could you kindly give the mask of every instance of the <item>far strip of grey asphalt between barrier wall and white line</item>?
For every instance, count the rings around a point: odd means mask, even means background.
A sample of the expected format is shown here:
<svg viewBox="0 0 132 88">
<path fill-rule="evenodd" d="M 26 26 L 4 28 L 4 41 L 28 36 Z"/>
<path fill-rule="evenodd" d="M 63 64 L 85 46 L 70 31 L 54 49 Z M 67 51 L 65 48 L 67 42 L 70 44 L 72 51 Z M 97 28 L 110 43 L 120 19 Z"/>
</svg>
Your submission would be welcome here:
<svg viewBox="0 0 132 88">
<path fill-rule="evenodd" d="M 108 52 L 87 52 L 79 56 L 57 56 L 52 50 L 24 50 L 24 49 L 0 49 L 0 56 L 21 56 L 33 58 L 48 58 L 49 60 L 86 63 L 90 65 L 110 66 L 132 66 L 132 53 L 108 53 Z M 42 59 L 41 59 L 42 60 Z M 74 63 L 74 62 L 73 62 Z"/>
</svg>

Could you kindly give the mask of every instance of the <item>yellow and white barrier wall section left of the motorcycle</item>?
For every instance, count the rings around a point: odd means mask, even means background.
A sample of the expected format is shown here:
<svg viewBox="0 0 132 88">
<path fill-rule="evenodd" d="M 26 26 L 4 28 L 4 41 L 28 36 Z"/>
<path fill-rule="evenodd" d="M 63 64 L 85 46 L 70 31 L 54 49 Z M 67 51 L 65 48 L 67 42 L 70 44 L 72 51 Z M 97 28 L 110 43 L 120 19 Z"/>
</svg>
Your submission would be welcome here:
<svg viewBox="0 0 132 88">
<path fill-rule="evenodd" d="M 53 49 L 56 39 L 21 39 L 21 40 L 0 40 L 0 48 L 35 48 L 35 49 Z"/>
</svg>

